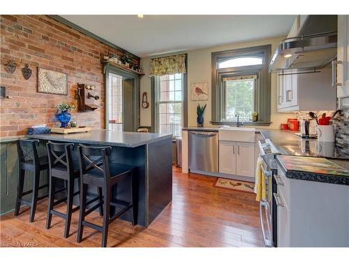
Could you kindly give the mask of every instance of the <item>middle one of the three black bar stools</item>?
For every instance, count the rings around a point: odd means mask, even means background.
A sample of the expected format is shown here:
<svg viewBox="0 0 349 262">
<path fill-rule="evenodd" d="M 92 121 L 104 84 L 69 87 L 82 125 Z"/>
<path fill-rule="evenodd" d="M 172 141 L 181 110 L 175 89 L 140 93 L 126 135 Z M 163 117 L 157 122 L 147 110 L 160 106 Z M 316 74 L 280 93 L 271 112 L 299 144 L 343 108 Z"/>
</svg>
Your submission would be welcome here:
<svg viewBox="0 0 349 262">
<path fill-rule="evenodd" d="M 70 230 L 71 215 L 73 212 L 79 210 L 79 206 L 73 208 L 73 198 L 80 191 L 74 193 L 75 178 L 80 179 L 79 170 L 73 166 L 72 151 L 74 150 L 73 143 L 52 143 L 49 141 L 46 144 L 49 171 L 50 171 L 50 190 L 48 198 L 48 210 L 46 219 L 46 229 L 51 227 L 52 214 L 66 219 L 66 226 L 64 228 L 64 238 L 68 238 Z M 56 191 L 57 179 L 64 180 L 66 184 L 66 196 L 54 202 L 54 195 L 61 190 Z M 80 187 L 80 183 L 79 183 Z M 66 201 L 66 214 L 54 210 L 54 206 Z"/>
</svg>

